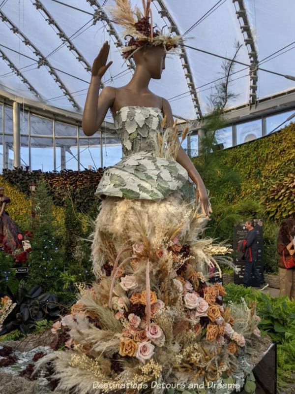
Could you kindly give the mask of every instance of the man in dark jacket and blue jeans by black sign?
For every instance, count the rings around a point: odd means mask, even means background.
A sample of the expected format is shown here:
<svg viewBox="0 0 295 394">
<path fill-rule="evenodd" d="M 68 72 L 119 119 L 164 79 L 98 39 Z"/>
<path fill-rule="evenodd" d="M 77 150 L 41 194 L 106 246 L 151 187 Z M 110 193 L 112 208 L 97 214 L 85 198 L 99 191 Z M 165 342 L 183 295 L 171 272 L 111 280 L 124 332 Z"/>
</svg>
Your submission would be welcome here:
<svg viewBox="0 0 295 394">
<path fill-rule="evenodd" d="M 245 228 L 248 230 L 245 239 L 239 241 L 243 242 L 246 246 L 244 259 L 245 259 L 245 271 L 243 277 L 243 286 L 249 287 L 252 276 L 260 284 L 260 290 L 266 289 L 268 283 L 264 279 L 264 275 L 260 274 L 257 268 L 257 258 L 258 258 L 258 243 L 257 243 L 257 233 L 254 228 L 254 221 L 249 219 L 245 223 Z"/>
</svg>

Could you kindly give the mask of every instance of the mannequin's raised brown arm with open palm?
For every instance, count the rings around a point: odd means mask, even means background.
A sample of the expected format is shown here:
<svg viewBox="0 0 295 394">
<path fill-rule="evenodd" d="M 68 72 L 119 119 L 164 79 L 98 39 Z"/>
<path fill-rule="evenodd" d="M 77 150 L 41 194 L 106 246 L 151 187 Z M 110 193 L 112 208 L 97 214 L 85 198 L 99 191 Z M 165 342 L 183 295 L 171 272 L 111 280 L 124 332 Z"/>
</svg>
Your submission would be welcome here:
<svg viewBox="0 0 295 394">
<path fill-rule="evenodd" d="M 114 103 L 115 93 L 112 87 L 104 88 L 99 96 L 101 78 L 113 63 L 106 64 L 109 52 L 110 45 L 106 41 L 92 65 L 91 80 L 82 119 L 82 129 L 86 135 L 92 135 L 100 128 L 108 109 Z"/>
</svg>

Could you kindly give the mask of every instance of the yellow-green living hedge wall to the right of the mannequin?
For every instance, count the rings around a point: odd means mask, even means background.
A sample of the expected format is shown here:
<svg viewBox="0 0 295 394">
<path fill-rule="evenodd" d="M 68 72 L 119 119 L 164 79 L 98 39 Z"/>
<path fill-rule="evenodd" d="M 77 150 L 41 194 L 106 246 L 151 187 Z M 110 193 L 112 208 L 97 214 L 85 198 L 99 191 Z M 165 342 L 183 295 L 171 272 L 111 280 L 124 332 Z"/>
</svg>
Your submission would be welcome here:
<svg viewBox="0 0 295 394">
<path fill-rule="evenodd" d="M 295 123 L 263 138 L 212 153 L 241 178 L 218 198 L 225 204 L 252 197 L 275 220 L 295 215 Z M 193 161 L 198 163 L 200 158 Z M 206 185 L 210 188 L 210 185 Z"/>
</svg>

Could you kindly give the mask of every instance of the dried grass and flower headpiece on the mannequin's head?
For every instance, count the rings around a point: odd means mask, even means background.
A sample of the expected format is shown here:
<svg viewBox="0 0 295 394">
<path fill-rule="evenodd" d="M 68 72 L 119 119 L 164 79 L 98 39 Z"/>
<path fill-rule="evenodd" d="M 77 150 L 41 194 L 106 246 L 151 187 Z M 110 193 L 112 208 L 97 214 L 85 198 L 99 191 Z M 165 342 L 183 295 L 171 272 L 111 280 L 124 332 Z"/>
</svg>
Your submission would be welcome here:
<svg viewBox="0 0 295 394">
<path fill-rule="evenodd" d="M 133 10 L 130 0 L 116 0 L 116 6 L 111 8 L 113 22 L 124 27 L 124 38 L 127 40 L 121 50 L 124 58 L 129 58 L 142 47 L 161 45 L 169 51 L 182 42 L 180 35 L 164 34 L 159 30 L 154 30 L 150 9 L 151 0 L 147 0 L 147 4 L 145 0 L 142 1 L 144 13 L 137 6 Z"/>
</svg>

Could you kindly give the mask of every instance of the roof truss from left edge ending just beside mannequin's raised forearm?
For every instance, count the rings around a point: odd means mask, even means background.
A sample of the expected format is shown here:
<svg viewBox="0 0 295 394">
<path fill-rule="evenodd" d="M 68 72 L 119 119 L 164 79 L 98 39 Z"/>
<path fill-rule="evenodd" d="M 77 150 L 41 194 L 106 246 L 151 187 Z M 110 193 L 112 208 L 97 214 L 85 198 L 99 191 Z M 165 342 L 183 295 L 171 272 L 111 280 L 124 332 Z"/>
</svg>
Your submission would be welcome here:
<svg viewBox="0 0 295 394">
<path fill-rule="evenodd" d="M 56 73 L 55 69 L 51 64 L 48 62 L 48 60 L 45 58 L 45 56 L 38 50 L 38 48 L 29 40 L 29 38 L 22 33 L 17 26 L 13 24 L 13 22 L 7 18 L 7 16 L 3 13 L 2 10 L 0 10 L 0 18 L 2 22 L 6 22 L 8 26 L 10 26 L 10 30 L 13 31 L 13 33 L 18 34 L 22 41 L 25 43 L 25 45 L 28 45 L 31 49 L 32 52 L 39 58 L 37 61 L 38 68 L 41 66 L 46 66 L 47 71 L 50 73 L 50 75 L 53 76 L 54 81 L 58 84 L 59 89 L 63 92 L 63 94 L 67 97 L 67 99 L 71 102 L 73 107 L 80 109 L 78 103 L 75 101 L 75 99 L 72 97 L 70 92 L 67 90 L 65 87 L 64 83 L 61 81 L 59 78 L 58 74 Z M 48 67 L 48 68 L 47 68 Z"/>
</svg>

